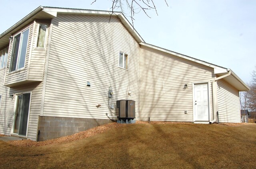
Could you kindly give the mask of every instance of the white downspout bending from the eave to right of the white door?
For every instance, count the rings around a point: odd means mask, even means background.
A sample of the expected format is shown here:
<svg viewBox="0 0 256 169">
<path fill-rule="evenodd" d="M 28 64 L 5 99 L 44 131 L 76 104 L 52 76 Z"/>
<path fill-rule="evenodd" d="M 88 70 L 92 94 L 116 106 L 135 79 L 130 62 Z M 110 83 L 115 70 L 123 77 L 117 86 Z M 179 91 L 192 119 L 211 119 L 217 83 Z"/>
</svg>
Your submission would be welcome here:
<svg viewBox="0 0 256 169">
<path fill-rule="evenodd" d="M 216 122 L 216 112 L 218 109 L 218 103 L 217 103 L 217 85 L 216 85 L 216 81 L 224 78 L 224 77 L 228 77 L 229 75 L 231 75 L 231 71 L 228 70 L 228 73 L 226 75 L 220 76 L 218 78 L 215 78 L 212 81 L 212 96 L 213 96 L 213 120 L 210 121 L 210 124 L 215 123 Z"/>
</svg>

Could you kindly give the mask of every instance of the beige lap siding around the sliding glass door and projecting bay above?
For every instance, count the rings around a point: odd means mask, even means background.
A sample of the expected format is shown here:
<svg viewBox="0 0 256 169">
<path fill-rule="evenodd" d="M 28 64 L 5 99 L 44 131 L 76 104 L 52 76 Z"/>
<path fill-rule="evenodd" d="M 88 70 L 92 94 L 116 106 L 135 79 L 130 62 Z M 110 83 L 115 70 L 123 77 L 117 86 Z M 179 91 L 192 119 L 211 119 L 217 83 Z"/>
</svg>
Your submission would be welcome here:
<svg viewBox="0 0 256 169">
<path fill-rule="evenodd" d="M 18 81 L 26 80 L 30 48 L 33 46 L 36 40 L 35 35 L 33 38 L 32 38 L 32 35 L 33 35 L 33 25 L 30 25 L 25 69 L 22 71 L 14 72 L 14 73 L 9 73 L 9 69 L 7 69 L 5 84 L 16 83 Z M 10 46 L 10 51 L 12 51 L 12 43 Z M 42 81 L 42 74 L 43 74 L 42 71 L 44 70 L 44 58 L 45 58 L 45 51 L 43 51 L 43 54 L 42 54 L 41 51 L 34 51 L 34 49 L 32 49 L 32 58 L 30 61 L 30 73 L 29 73 L 28 80 L 33 81 L 35 79 L 38 79 L 38 74 L 41 74 L 40 78 Z M 11 52 L 9 53 L 8 64 L 10 64 L 10 59 L 11 59 Z M 40 69 L 40 71 L 38 71 L 38 69 Z M 0 69 L 0 77 L 1 77 L 0 78 L 1 79 L 0 94 L 2 94 L 2 103 L 0 107 L 0 133 L 7 134 L 7 135 L 11 134 L 12 128 L 8 128 L 8 124 L 13 123 L 12 120 L 13 120 L 15 99 L 9 98 L 10 94 L 14 94 L 14 93 L 21 94 L 26 92 L 32 92 L 31 103 L 30 103 L 30 116 L 28 119 L 28 136 L 27 137 L 30 140 L 36 140 L 38 116 L 40 115 L 40 107 L 42 102 L 42 86 L 43 85 L 42 83 L 31 83 L 31 84 L 12 87 L 12 88 L 6 87 L 3 84 L 4 71 L 5 69 Z"/>
</svg>

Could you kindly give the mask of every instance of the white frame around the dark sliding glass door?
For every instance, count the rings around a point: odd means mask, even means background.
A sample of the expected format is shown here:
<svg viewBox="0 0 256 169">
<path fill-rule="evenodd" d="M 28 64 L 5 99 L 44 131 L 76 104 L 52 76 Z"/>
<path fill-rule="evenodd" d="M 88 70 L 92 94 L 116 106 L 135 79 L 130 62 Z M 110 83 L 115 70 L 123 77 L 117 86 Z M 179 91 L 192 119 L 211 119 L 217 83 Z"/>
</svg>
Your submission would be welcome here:
<svg viewBox="0 0 256 169">
<path fill-rule="evenodd" d="M 27 122 L 27 128 L 26 128 L 26 136 L 23 136 L 23 135 L 19 135 L 19 134 L 16 134 L 16 133 L 13 133 L 13 130 L 14 130 L 14 120 L 15 120 L 15 111 L 17 109 L 17 96 L 18 95 L 21 95 L 21 94 L 26 94 L 26 93 L 30 93 L 30 99 L 29 99 L 29 106 L 28 106 L 28 122 Z M 28 124 L 29 124 L 29 119 L 30 119 L 30 107 L 31 107 L 31 97 L 32 96 L 32 91 L 29 91 L 29 92 L 22 92 L 22 93 L 15 93 L 14 94 L 14 106 L 13 106 L 13 112 L 12 112 L 12 130 L 11 130 L 11 135 L 14 135 L 14 136 L 18 136 L 18 137 L 23 137 L 23 138 L 27 138 L 28 137 Z"/>
</svg>

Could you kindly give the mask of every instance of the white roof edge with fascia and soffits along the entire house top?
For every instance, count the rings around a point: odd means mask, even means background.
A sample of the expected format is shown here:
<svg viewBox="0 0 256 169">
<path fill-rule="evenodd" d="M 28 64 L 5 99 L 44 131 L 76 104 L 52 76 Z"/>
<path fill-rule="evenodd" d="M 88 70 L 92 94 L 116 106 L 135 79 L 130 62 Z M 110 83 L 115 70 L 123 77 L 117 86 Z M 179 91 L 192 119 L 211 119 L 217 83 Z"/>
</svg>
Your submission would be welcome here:
<svg viewBox="0 0 256 169">
<path fill-rule="evenodd" d="M 33 22 L 34 19 L 52 19 L 56 17 L 58 14 L 84 14 L 84 15 L 102 15 L 102 16 L 110 16 L 112 12 L 110 11 L 101 11 L 101 10 L 84 10 L 84 9 L 71 9 L 71 8 L 55 8 L 55 7 L 43 7 L 39 6 L 28 14 L 26 17 L 24 17 L 22 20 L 14 24 L 11 28 L 7 29 L 0 35 L 0 48 L 6 47 L 6 44 L 9 43 L 9 37 L 16 33 L 19 29 L 23 28 L 24 26 L 28 25 L 29 23 Z M 227 74 L 228 72 L 231 72 L 231 75 L 228 77 L 224 77 L 223 79 L 227 81 L 228 83 L 232 84 L 235 88 L 237 88 L 239 91 L 248 91 L 250 88 L 233 72 L 231 69 L 226 69 L 224 67 L 220 67 L 218 65 L 214 65 L 205 61 L 201 61 L 199 59 L 195 59 L 186 55 L 182 55 L 180 53 L 176 53 L 167 49 L 163 49 L 154 45 L 150 45 L 148 43 L 145 43 L 142 37 L 138 34 L 138 32 L 132 27 L 132 25 L 128 22 L 128 20 L 125 18 L 125 16 L 121 12 L 114 12 L 113 15 L 118 16 L 118 18 L 121 20 L 122 24 L 126 27 L 126 29 L 132 34 L 134 39 L 140 44 L 144 45 L 153 49 L 157 49 L 166 53 L 170 53 L 172 55 L 182 57 L 184 59 L 188 59 L 190 61 L 194 61 L 196 63 L 200 63 L 202 65 L 206 65 L 208 67 L 212 67 L 214 69 L 214 74 L 216 76 L 222 76 Z"/>
</svg>

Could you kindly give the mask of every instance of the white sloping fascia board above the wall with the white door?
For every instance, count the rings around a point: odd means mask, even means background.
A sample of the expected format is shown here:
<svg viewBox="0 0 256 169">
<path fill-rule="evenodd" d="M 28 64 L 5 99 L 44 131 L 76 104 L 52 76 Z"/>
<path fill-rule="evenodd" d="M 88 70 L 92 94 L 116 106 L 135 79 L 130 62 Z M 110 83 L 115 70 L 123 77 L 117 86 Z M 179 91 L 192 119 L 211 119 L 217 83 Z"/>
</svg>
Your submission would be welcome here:
<svg viewBox="0 0 256 169">
<path fill-rule="evenodd" d="M 175 55 L 175 56 L 178 56 L 178 57 L 182 57 L 184 59 L 188 59 L 190 61 L 193 61 L 193 62 L 196 62 L 196 63 L 200 63 L 202 65 L 206 65 L 208 67 L 212 67 L 214 68 L 214 74 L 216 73 L 226 73 L 228 72 L 226 68 L 223 68 L 223 67 L 219 67 L 217 65 L 213 65 L 211 63 L 208 63 L 208 62 L 205 62 L 205 61 L 201 61 L 201 60 L 198 60 L 198 59 L 195 59 L 193 57 L 189 57 L 189 56 L 186 56 L 186 55 L 182 55 L 180 53 L 176 53 L 174 51 L 170 51 L 170 50 L 167 50 L 167 49 L 163 49 L 161 47 L 157 47 L 157 46 L 154 46 L 154 45 L 150 45 L 148 43 L 140 43 L 140 45 L 144 45 L 146 47 L 150 47 L 150 48 L 153 48 L 153 49 L 156 49 L 156 50 L 159 50 L 159 51 L 163 51 L 163 52 L 166 52 L 166 53 L 170 53 L 172 55 Z"/>
</svg>

